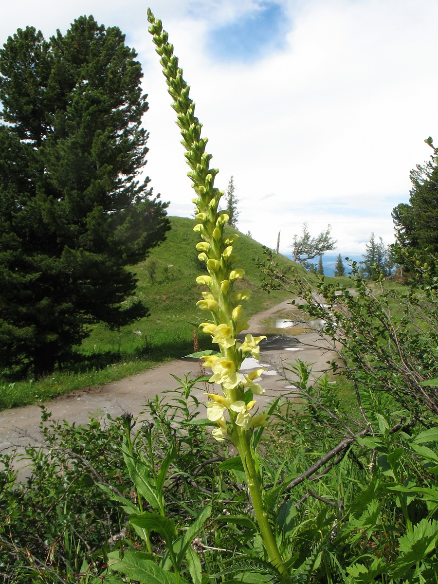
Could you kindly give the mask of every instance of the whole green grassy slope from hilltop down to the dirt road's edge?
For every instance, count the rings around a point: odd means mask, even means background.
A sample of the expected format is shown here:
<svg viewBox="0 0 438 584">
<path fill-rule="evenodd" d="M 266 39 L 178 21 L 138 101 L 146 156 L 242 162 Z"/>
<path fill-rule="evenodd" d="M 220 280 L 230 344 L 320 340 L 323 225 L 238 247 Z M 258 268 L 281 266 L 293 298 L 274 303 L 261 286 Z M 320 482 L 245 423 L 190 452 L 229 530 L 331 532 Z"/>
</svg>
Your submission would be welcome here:
<svg viewBox="0 0 438 584">
<path fill-rule="evenodd" d="M 0 384 L 0 409 L 121 379 L 192 352 L 193 323 L 208 319 L 209 314 L 196 308 L 201 288 L 194 280 L 206 271 L 194 249 L 199 241 L 199 235 L 193 231 L 196 221 L 182 217 L 170 219 L 172 230 L 164 244 L 152 250 L 145 262 L 133 267 L 138 277 L 137 296 L 145 301 L 151 316 L 120 331 L 96 326 L 80 349 L 84 362 L 75 370 L 55 371 L 38 382 Z M 227 230 L 235 232 L 229 227 Z M 258 290 L 261 278 L 253 259 L 262 258 L 262 246 L 244 234 L 239 235 L 234 247 L 239 255 L 237 267 L 243 267 L 246 272 L 241 286 L 253 291 L 251 301 L 244 305 L 245 314 L 251 315 L 289 295 Z M 279 256 L 279 262 L 291 265 L 284 256 Z M 199 331 L 197 335 L 201 347 L 211 346 L 209 337 Z"/>
</svg>

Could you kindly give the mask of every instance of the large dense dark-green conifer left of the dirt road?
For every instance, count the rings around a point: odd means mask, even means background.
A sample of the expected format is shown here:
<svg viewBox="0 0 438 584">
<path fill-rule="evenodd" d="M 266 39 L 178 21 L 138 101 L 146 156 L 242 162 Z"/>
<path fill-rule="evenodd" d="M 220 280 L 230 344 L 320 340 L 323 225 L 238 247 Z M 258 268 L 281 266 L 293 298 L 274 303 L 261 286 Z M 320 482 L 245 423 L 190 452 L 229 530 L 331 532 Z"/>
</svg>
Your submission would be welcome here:
<svg viewBox="0 0 438 584">
<path fill-rule="evenodd" d="M 0 368 L 40 376 L 89 325 L 148 314 L 127 266 L 164 241 L 167 204 L 145 164 L 141 67 L 117 27 L 92 16 L 44 40 L 19 29 L 0 50 Z"/>
</svg>

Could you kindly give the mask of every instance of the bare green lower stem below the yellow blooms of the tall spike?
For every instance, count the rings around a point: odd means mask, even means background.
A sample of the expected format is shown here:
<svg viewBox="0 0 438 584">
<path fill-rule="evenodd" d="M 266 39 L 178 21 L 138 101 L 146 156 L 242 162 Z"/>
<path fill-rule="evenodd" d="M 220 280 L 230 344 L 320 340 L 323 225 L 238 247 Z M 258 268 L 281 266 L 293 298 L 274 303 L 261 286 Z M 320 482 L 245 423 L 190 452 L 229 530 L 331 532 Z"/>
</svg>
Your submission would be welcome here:
<svg viewBox="0 0 438 584">
<path fill-rule="evenodd" d="M 252 506 L 259 526 L 260 535 L 262 536 L 263 544 L 265 545 L 266 551 L 269 554 L 272 565 L 280 572 L 283 581 L 289 582 L 290 578 L 287 572 L 287 568 L 283 563 L 283 559 L 281 558 L 276 539 L 269 524 L 265 506 L 263 505 L 262 484 L 259 473 L 255 467 L 251 439 L 249 437 L 248 431 L 245 431 L 243 428 L 238 428 L 238 440 L 236 446 L 244 465 Z"/>
</svg>

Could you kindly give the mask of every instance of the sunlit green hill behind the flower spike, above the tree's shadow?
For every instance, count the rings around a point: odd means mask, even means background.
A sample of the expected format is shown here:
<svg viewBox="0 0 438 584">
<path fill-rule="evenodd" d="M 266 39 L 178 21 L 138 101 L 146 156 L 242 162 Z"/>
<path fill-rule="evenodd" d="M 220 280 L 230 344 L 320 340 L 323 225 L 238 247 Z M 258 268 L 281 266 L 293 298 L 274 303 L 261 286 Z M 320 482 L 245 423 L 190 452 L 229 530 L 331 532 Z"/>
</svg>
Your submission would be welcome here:
<svg viewBox="0 0 438 584">
<path fill-rule="evenodd" d="M 133 267 L 138 277 L 137 297 L 148 306 L 151 316 L 132 326 L 112 332 L 97 326 L 89 339 L 84 342 L 83 350 L 101 352 L 105 346 L 120 350 L 123 354 L 135 354 L 135 347 L 145 344 L 150 356 L 158 359 L 179 357 L 191 350 L 193 345 L 193 323 L 206 318 L 196 307 L 201 288 L 196 284 L 196 276 L 206 273 L 205 266 L 197 259 L 196 243 L 199 234 L 193 231 L 196 221 L 184 217 L 170 217 L 172 230 L 166 241 L 151 251 L 150 256 Z M 287 298 L 286 293 L 267 294 L 259 290 L 261 278 L 254 258 L 263 256 L 262 245 L 251 237 L 241 234 L 227 226 L 230 233 L 237 232 L 239 240 L 234 245 L 239 255 L 238 267 L 245 269 L 245 277 L 239 286 L 253 292 L 252 299 L 245 303 L 245 314 L 255 314 L 270 305 Z M 284 266 L 291 261 L 279 256 Z M 141 335 L 133 331 L 140 331 Z M 197 333 L 201 342 L 201 333 Z M 147 340 L 146 340 L 147 339 Z"/>
</svg>

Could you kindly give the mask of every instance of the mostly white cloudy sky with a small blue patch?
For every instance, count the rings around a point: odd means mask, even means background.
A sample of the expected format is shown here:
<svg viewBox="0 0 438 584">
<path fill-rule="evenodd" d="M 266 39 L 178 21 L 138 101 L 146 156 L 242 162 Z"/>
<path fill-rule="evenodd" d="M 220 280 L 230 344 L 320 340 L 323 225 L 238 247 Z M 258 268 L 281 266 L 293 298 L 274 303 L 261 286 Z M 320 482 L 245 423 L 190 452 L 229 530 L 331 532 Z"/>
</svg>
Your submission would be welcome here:
<svg viewBox="0 0 438 584">
<path fill-rule="evenodd" d="M 371 232 L 393 241 L 392 208 L 409 171 L 438 142 L 436 0 L 151 0 L 191 86 L 225 189 L 234 176 L 239 228 L 288 253 L 306 221 L 329 223 L 335 253 L 364 251 Z M 16 0 L 0 22 L 46 37 L 93 14 L 136 48 L 150 110 L 145 172 L 169 212 L 193 196 L 175 115 L 140 0 Z"/>
</svg>

